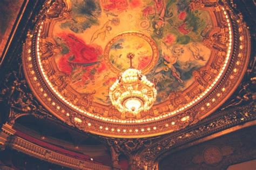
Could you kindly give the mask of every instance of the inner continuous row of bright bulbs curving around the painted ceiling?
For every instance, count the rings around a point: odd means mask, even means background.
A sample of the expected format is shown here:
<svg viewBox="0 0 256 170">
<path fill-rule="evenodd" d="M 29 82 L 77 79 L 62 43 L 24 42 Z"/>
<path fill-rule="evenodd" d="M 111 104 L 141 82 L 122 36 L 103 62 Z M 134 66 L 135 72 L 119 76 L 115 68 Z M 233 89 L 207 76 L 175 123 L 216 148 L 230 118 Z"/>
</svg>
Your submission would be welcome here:
<svg viewBox="0 0 256 170">
<path fill-rule="evenodd" d="M 42 25 L 44 24 L 43 22 L 41 23 L 41 26 L 39 27 L 39 31 L 38 31 L 38 38 L 37 38 L 37 57 L 38 57 L 38 64 L 39 64 L 39 67 L 42 71 L 42 74 L 46 80 L 46 82 L 48 83 L 48 85 L 51 87 L 52 91 L 55 92 L 57 94 L 57 96 L 62 99 L 66 104 L 68 104 L 69 106 L 75 108 L 75 110 L 79 111 L 79 112 L 82 112 L 90 117 L 93 117 L 93 118 L 96 118 L 96 119 L 100 119 L 100 120 L 104 120 L 104 121 L 111 121 L 111 122 L 116 122 L 116 123 L 143 123 L 143 122 L 148 122 L 148 121 L 153 121 L 153 120 L 159 120 L 159 119 L 162 119 L 162 118 L 166 118 L 170 115 L 173 115 L 173 114 L 177 114 L 183 110 L 185 110 L 187 107 L 190 107 L 191 105 L 195 104 L 197 101 L 199 101 L 201 98 L 203 98 L 212 88 L 213 86 L 217 83 L 217 81 L 220 79 L 220 77 L 222 76 L 224 70 L 226 69 L 226 66 L 227 66 L 227 63 L 228 63 L 228 60 L 230 58 L 230 54 L 231 54 L 231 46 L 232 46 L 232 32 L 231 32 L 231 24 L 230 24 L 230 21 L 228 19 L 228 15 L 227 15 L 227 12 L 225 11 L 224 8 L 222 8 L 223 12 L 224 12 L 224 16 L 227 20 L 227 25 L 228 25 L 228 32 L 229 32 L 229 43 L 228 43 L 228 50 L 227 50 L 227 56 L 226 56 L 226 59 L 225 59 L 225 63 L 223 65 L 223 67 L 221 68 L 221 71 L 219 72 L 217 78 L 215 78 L 215 80 L 213 81 L 213 83 L 211 84 L 210 87 L 208 87 L 203 93 L 200 94 L 199 97 L 197 97 L 196 99 L 194 99 L 193 101 L 191 101 L 190 103 L 188 103 L 187 105 L 179 108 L 178 110 L 176 111 L 172 111 L 168 114 L 164 114 L 164 115 L 160 115 L 158 117 L 155 117 L 155 118 L 151 118 L 151 119 L 139 119 L 139 120 L 116 120 L 116 119 L 110 119 L 110 118 L 104 118 L 104 117 L 100 117 L 98 115 L 94 115 L 92 113 L 89 113 L 89 112 L 86 112 L 82 109 L 80 109 L 79 107 L 73 105 L 72 103 L 70 103 L 69 101 L 67 101 L 59 92 L 57 92 L 57 90 L 52 86 L 52 84 L 50 83 L 48 77 L 46 76 L 45 72 L 44 72 L 44 69 L 43 69 L 43 66 L 42 66 L 42 61 L 41 61 L 41 57 L 40 57 L 40 50 L 39 50 L 39 40 L 40 40 L 40 35 L 41 35 L 41 30 L 42 30 Z M 240 47 L 241 49 L 241 47 Z M 36 80 L 37 78 L 34 77 L 34 80 Z M 207 104 L 207 106 L 210 106 L 210 103 Z"/>
</svg>

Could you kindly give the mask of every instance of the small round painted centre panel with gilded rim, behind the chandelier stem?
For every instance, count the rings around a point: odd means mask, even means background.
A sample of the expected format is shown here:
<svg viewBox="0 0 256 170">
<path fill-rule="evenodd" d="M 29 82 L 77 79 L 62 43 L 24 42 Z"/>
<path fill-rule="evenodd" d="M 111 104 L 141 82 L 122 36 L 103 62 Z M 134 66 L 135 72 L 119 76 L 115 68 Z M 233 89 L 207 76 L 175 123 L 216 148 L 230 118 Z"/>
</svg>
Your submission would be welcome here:
<svg viewBox="0 0 256 170">
<path fill-rule="evenodd" d="M 125 32 L 114 37 L 107 43 L 104 51 L 104 59 L 107 66 L 117 74 L 130 68 L 130 60 L 126 55 L 134 52 L 132 67 L 149 72 L 158 62 L 157 44 L 153 39 L 139 32 Z"/>
</svg>

